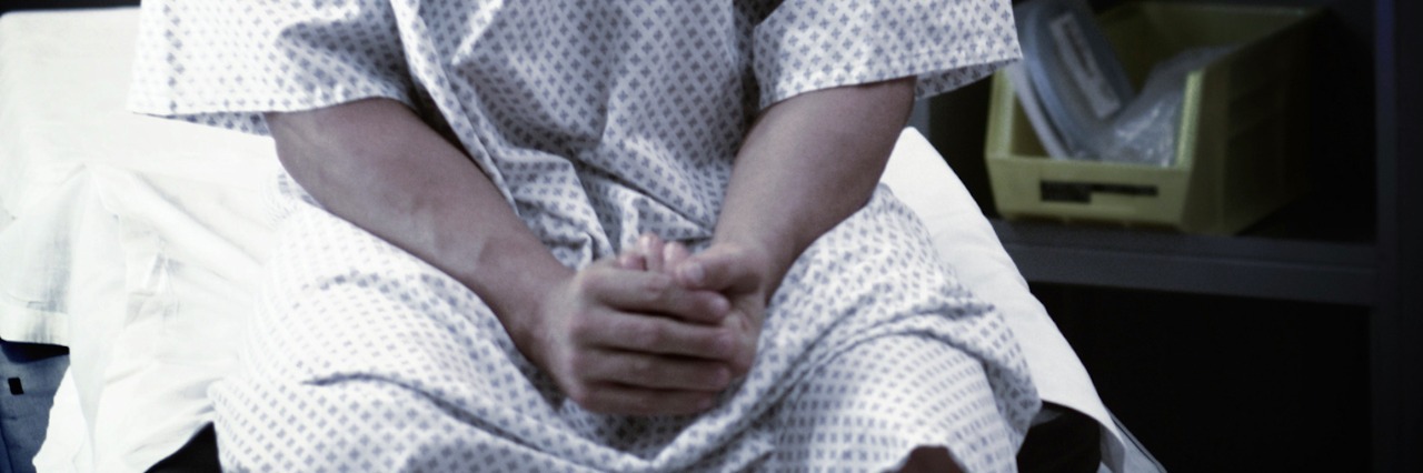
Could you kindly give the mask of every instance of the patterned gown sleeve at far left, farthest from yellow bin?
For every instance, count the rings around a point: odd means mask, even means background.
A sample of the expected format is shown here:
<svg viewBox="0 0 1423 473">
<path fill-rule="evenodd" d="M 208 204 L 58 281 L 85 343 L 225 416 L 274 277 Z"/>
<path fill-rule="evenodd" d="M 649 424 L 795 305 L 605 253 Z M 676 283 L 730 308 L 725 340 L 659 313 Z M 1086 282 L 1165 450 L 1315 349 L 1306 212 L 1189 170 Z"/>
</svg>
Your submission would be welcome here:
<svg viewBox="0 0 1423 473">
<path fill-rule="evenodd" d="M 250 134 L 262 112 L 411 104 L 384 0 L 145 0 L 128 108 Z"/>
</svg>

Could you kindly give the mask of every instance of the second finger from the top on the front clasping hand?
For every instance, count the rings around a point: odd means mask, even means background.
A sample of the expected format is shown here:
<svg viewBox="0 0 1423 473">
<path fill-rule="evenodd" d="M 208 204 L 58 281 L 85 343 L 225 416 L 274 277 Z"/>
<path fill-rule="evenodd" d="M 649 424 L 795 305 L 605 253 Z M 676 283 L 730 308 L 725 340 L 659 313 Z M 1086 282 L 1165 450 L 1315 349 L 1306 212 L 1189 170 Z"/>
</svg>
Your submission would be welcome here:
<svg viewBox="0 0 1423 473">
<path fill-rule="evenodd" d="M 573 328 L 573 337 L 591 348 L 726 361 L 737 354 L 734 328 L 609 312 L 583 320 Z"/>
</svg>

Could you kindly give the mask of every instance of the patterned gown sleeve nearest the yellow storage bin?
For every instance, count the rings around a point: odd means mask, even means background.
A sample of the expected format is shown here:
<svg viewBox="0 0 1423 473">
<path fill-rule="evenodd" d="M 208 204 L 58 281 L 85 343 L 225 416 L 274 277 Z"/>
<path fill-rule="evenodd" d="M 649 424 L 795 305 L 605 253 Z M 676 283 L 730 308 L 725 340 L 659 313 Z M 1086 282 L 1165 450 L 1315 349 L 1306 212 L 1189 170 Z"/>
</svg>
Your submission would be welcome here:
<svg viewBox="0 0 1423 473">
<path fill-rule="evenodd" d="M 909 75 L 926 98 L 1022 55 L 1007 0 L 785 0 L 753 34 L 761 108 Z"/>
</svg>

